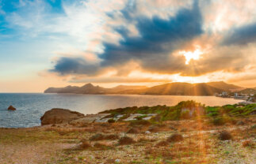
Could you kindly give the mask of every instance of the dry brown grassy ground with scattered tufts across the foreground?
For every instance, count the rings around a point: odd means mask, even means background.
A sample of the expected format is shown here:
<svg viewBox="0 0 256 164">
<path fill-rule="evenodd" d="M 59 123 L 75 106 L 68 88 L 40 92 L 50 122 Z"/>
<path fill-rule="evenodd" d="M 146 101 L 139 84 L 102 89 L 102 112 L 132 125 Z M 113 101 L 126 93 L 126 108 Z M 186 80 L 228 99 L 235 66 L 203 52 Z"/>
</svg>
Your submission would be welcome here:
<svg viewBox="0 0 256 164">
<path fill-rule="evenodd" d="M 165 125 L 142 125 L 139 134 L 127 134 L 132 127 L 120 122 L 0 129 L 0 163 L 93 164 L 114 163 L 116 159 L 124 164 L 255 163 L 256 129 L 251 126 L 256 119 L 243 121 L 245 125 L 223 126 L 202 120 L 166 121 Z M 157 133 L 145 134 L 150 126 Z M 223 131 L 229 132 L 232 140 L 220 140 Z M 101 140 L 88 141 L 98 133 Z M 166 142 L 177 133 L 183 140 Z"/>
</svg>

